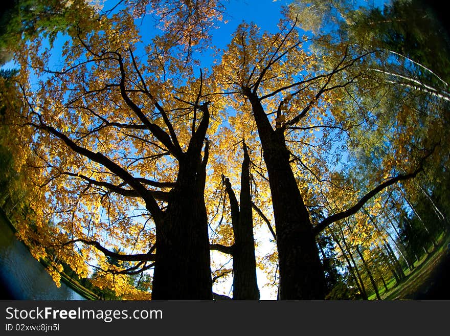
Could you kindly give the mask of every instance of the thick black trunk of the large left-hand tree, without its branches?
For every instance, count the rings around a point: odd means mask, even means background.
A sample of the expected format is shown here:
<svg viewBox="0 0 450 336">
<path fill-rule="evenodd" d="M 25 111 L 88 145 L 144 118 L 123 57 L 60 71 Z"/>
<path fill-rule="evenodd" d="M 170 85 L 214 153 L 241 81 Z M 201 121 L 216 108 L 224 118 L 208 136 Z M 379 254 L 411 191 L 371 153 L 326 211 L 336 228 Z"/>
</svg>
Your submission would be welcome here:
<svg viewBox="0 0 450 336">
<path fill-rule="evenodd" d="M 204 190 L 208 142 L 201 149 L 209 123 L 207 106 L 188 150 L 179 156 L 175 187 L 156 225 L 156 261 L 152 300 L 212 300 L 208 218 Z"/>
</svg>

